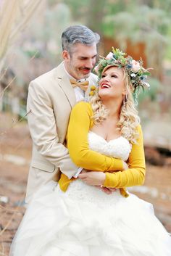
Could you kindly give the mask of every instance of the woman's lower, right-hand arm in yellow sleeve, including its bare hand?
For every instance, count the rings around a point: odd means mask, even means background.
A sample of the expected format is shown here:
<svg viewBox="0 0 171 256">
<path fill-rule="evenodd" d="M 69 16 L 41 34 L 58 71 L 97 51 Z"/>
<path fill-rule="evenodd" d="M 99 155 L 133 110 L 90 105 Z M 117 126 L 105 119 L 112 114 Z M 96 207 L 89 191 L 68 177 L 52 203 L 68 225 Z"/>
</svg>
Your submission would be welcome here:
<svg viewBox="0 0 171 256">
<path fill-rule="evenodd" d="M 139 139 L 133 144 L 128 160 L 129 168 L 115 173 L 83 173 L 78 177 L 89 185 L 103 185 L 108 188 L 120 189 L 127 186 L 142 185 L 146 172 L 143 150 L 143 134 L 141 126 L 138 126 Z"/>
</svg>

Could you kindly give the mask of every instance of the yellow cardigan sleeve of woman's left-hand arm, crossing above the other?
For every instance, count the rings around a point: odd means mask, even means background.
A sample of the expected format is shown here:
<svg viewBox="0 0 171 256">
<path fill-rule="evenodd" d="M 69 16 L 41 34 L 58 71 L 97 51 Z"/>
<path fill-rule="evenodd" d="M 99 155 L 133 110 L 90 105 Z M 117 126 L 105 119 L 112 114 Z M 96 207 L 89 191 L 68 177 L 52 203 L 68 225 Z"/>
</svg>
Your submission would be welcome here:
<svg viewBox="0 0 171 256">
<path fill-rule="evenodd" d="M 89 149 L 88 131 L 93 124 L 92 114 L 91 104 L 88 102 L 79 102 L 72 109 L 67 131 L 67 148 L 72 161 L 87 170 L 122 171 L 122 160 Z"/>
</svg>

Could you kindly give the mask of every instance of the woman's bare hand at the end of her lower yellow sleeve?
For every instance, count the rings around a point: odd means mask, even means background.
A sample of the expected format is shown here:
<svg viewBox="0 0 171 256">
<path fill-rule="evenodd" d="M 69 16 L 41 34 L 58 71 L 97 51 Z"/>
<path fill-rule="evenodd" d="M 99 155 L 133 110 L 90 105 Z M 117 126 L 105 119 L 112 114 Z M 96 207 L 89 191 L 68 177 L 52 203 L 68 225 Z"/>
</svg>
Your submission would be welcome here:
<svg viewBox="0 0 171 256">
<path fill-rule="evenodd" d="M 80 173 L 78 178 L 92 186 L 103 185 L 106 175 L 102 172 L 86 172 Z"/>
</svg>

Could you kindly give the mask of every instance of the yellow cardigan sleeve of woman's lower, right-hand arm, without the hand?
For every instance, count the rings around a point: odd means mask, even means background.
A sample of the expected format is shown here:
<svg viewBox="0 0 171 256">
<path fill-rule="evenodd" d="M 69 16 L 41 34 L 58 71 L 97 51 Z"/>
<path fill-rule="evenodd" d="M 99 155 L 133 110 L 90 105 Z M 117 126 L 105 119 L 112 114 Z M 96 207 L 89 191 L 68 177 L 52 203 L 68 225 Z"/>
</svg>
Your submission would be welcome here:
<svg viewBox="0 0 171 256">
<path fill-rule="evenodd" d="M 139 138 L 136 144 L 132 145 L 132 150 L 128 159 L 128 170 L 117 173 L 106 173 L 104 186 L 116 189 L 127 186 L 138 186 L 144 182 L 146 164 L 143 150 L 143 133 L 141 125 L 138 126 Z"/>
</svg>

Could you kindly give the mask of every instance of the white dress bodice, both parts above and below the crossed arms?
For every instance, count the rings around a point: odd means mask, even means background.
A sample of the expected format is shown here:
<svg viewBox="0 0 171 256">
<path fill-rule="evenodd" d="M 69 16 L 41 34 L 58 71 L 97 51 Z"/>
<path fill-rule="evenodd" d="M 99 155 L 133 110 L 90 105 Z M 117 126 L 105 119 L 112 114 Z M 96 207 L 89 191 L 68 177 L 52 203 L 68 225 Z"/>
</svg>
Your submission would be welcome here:
<svg viewBox="0 0 171 256">
<path fill-rule="evenodd" d="M 107 156 L 120 158 L 124 161 L 128 160 L 131 150 L 129 141 L 122 136 L 117 139 L 112 139 L 111 141 L 106 141 L 93 131 L 89 131 L 88 133 L 88 144 L 93 151 Z M 59 193 L 63 192 L 60 192 L 59 189 Z M 101 205 L 101 207 L 109 207 L 114 202 L 116 203 L 120 198 L 124 199 L 124 197 L 121 196 L 119 189 L 113 194 L 105 194 L 103 191 L 96 188 L 96 186 L 90 186 L 80 179 L 70 183 L 65 195 L 75 200 Z"/>
</svg>

